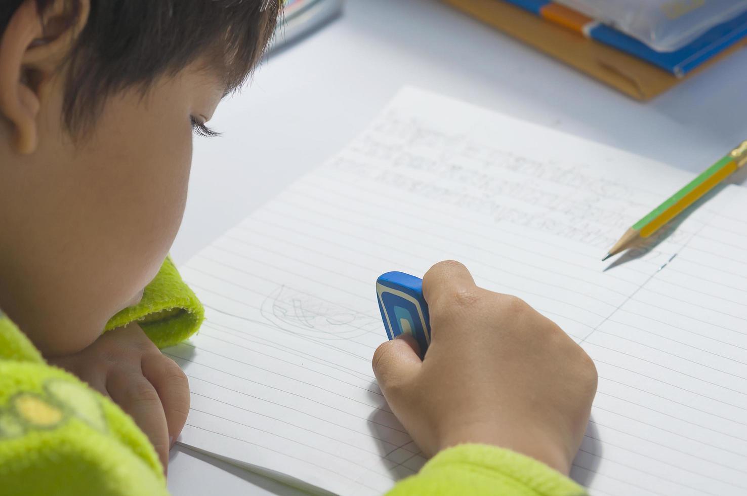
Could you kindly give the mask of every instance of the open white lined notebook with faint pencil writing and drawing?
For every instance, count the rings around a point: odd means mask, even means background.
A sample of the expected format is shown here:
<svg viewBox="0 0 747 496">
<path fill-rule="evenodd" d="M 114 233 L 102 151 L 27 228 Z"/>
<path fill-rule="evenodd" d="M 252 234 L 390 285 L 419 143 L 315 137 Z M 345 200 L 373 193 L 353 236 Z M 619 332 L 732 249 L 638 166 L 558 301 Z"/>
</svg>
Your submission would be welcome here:
<svg viewBox="0 0 747 496">
<path fill-rule="evenodd" d="M 598 396 L 572 473 L 592 494 L 743 494 L 743 189 L 638 258 L 600 261 L 687 179 L 403 90 L 328 164 L 182 267 L 207 320 L 167 350 L 192 391 L 179 441 L 342 495 L 414 474 L 425 459 L 371 373 L 385 339 L 374 282 L 454 258 L 595 359 Z"/>
</svg>

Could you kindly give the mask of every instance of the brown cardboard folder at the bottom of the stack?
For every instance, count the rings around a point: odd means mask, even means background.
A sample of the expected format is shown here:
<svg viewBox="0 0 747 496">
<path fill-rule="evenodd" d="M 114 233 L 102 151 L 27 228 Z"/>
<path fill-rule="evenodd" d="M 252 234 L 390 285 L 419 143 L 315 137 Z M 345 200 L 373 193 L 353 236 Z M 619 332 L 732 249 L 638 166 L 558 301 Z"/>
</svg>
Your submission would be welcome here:
<svg viewBox="0 0 747 496">
<path fill-rule="evenodd" d="M 573 66 L 636 100 L 648 100 L 663 93 L 729 54 L 747 45 L 747 39 L 736 43 L 684 78 L 678 78 L 648 62 L 618 49 L 548 22 L 527 10 L 502 0 L 444 0 L 480 21 Z"/>
</svg>

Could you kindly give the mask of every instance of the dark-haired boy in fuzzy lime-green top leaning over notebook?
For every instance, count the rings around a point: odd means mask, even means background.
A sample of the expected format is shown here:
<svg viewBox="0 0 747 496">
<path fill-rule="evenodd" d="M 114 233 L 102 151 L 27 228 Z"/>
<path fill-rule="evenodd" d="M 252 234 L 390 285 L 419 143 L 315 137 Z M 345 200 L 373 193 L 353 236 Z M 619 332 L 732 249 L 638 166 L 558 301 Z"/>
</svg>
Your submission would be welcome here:
<svg viewBox="0 0 747 496">
<path fill-rule="evenodd" d="M 191 135 L 212 134 L 278 13 L 274 0 L 0 4 L 4 494 L 165 492 L 189 389 L 158 347 L 202 320 L 164 262 Z M 424 293 L 427 359 L 406 339 L 373 356 L 403 426 L 438 453 L 393 493 L 582 494 L 565 475 L 595 392 L 588 356 L 456 262 L 429 270 Z"/>
</svg>

